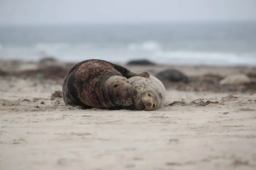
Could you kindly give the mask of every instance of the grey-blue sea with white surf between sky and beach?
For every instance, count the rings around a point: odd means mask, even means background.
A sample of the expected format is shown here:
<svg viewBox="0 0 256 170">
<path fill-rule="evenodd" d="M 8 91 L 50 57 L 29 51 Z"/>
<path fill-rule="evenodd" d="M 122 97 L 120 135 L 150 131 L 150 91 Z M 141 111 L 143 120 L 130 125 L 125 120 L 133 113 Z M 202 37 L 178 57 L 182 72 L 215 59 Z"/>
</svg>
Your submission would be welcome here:
<svg viewBox="0 0 256 170">
<path fill-rule="evenodd" d="M 0 59 L 256 65 L 256 22 L 0 26 Z"/>
</svg>

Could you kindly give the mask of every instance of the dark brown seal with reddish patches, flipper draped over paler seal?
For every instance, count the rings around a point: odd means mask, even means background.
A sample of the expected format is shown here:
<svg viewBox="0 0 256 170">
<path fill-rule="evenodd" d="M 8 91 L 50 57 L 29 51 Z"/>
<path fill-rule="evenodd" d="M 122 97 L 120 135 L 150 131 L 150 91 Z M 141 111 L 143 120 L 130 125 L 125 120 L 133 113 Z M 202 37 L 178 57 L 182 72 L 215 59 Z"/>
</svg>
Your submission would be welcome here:
<svg viewBox="0 0 256 170">
<path fill-rule="evenodd" d="M 147 71 L 132 72 L 105 60 L 84 60 L 74 65 L 64 78 L 64 103 L 84 109 L 115 109 L 132 105 L 134 87 L 129 84 L 128 78 L 134 76 L 150 77 Z"/>
</svg>

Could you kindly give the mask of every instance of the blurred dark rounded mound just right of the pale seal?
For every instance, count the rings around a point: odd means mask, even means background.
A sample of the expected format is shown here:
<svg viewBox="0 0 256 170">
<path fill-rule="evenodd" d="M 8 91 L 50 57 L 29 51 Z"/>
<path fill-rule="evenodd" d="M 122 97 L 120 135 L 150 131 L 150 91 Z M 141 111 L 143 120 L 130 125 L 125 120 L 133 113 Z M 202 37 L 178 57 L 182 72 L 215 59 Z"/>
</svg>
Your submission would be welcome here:
<svg viewBox="0 0 256 170">
<path fill-rule="evenodd" d="M 161 81 L 171 81 L 171 82 L 189 82 L 189 78 L 182 72 L 175 69 L 166 69 L 158 72 L 155 77 Z"/>
</svg>

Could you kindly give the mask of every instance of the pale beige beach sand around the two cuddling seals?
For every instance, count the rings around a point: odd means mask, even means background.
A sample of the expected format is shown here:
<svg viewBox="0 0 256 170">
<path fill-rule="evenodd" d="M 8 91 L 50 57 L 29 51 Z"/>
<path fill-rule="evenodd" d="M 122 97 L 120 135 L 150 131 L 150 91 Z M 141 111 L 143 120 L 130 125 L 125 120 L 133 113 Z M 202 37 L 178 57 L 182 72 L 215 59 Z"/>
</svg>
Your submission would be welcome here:
<svg viewBox="0 0 256 170">
<path fill-rule="evenodd" d="M 256 169 L 255 93 L 167 89 L 157 111 L 81 110 L 51 98 L 60 82 L 0 77 L 1 170 Z"/>
</svg>

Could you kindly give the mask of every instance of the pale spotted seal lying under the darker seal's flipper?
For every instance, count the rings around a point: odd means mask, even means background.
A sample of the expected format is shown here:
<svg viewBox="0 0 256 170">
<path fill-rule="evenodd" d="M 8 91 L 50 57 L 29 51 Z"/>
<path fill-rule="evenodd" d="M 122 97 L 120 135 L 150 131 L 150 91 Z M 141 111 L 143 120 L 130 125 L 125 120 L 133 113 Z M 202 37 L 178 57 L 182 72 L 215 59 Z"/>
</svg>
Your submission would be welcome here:
<svg viewBox="0 0 256 170">
<path fill-rule="evenodd" d="M 166 100 L 166 88 L 156 77 L 131 77 L 128 79 L 134 86 L 133 104 L 123 107 L 128 110 L 154 111 L 162 108 Z"/>
</svg>

